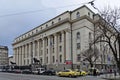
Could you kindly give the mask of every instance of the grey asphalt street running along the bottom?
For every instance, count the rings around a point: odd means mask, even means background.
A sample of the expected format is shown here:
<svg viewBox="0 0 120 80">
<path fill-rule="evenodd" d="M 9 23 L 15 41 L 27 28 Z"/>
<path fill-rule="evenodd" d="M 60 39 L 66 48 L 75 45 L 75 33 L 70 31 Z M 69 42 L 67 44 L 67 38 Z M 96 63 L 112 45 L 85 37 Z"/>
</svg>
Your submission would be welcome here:
<svg viewBox="0 0 120 80">
<path fill-rule="evenodd" d="M 77 78 L 58 77 L 58 76 L 44 76 L 33 74 L 15 74 L 0 72 L 0 80 L 104 80 L 99 76 L 84 76 Z"/>
</svg>

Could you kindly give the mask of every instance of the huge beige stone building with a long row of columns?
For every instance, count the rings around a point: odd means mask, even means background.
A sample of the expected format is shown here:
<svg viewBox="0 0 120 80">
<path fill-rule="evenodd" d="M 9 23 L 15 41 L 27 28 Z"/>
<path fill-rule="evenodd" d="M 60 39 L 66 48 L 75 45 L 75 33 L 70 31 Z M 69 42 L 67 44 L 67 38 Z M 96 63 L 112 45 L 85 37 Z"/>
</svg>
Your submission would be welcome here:
<svg viewBox="0 0 120 80">
<path fill-rule="evenodd" d="M 47 68 L 70 68 L 71 62 L 74 67 L 81 65 L 81 52 L 89 47 L 90 39 L 94 38 L 95 15 L 88 7 L 82 6 L 20 35 L 13 43 L 16 64 L 30 65 L 35 58 Z M 104 60 L 102 64 L 105 63 L 107 61 Z M 101 60 L 96 64 L 101 64 Z"/>
</svg>

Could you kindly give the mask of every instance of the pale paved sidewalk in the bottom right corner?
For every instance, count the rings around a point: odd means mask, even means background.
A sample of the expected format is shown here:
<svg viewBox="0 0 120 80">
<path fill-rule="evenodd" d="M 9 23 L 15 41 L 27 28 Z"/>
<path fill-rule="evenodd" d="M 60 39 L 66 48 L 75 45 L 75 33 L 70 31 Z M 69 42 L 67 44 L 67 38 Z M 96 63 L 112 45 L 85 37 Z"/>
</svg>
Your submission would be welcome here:
<svg viewBox="0 0 120 80">
<path fill-rule="evenodd" d="M 120 80 L 120 76 L 118 73 L 116 76 L 114 75 L 114 73 L 112 73 L 112 74 L 103 74 L 103 75 L 100 75 L 100 77 L 102 79 L 107 79 L 107 80 Z"/>
</svg>

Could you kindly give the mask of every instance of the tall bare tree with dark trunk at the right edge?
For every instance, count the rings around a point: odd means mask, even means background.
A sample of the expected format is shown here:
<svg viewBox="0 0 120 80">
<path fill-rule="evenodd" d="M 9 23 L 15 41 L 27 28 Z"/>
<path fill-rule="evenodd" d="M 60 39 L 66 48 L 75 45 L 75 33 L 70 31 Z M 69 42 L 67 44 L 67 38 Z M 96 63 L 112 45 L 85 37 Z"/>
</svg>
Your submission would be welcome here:
<svg viewBox="0 0 120 80">
<path fill-rule="evenodd" d="M 109 45 L 120 73 L 120 8 L 106 8 L 101 11 L 95 23 L 97 28 L 94 43 L 104 42 Z"/>
</svg>

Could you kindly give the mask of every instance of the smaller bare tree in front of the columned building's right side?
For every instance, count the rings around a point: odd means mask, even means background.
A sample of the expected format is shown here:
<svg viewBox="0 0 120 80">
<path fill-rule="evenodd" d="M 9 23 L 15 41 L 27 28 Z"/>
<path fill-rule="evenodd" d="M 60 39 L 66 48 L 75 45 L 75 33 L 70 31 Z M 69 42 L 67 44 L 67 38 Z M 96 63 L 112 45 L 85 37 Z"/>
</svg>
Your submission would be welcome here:
<svg viewBox="0 0 120 80">
<path fill-rule="evenodd" d="M 90 66 L 93 67 L 93 64 L 96 62 L 96 60 L 99 57 L 99 50 L 97 47 L 89 46 L 88 49 L 82 52 L 83 61 L 88 61 Z"/>
</svg>

